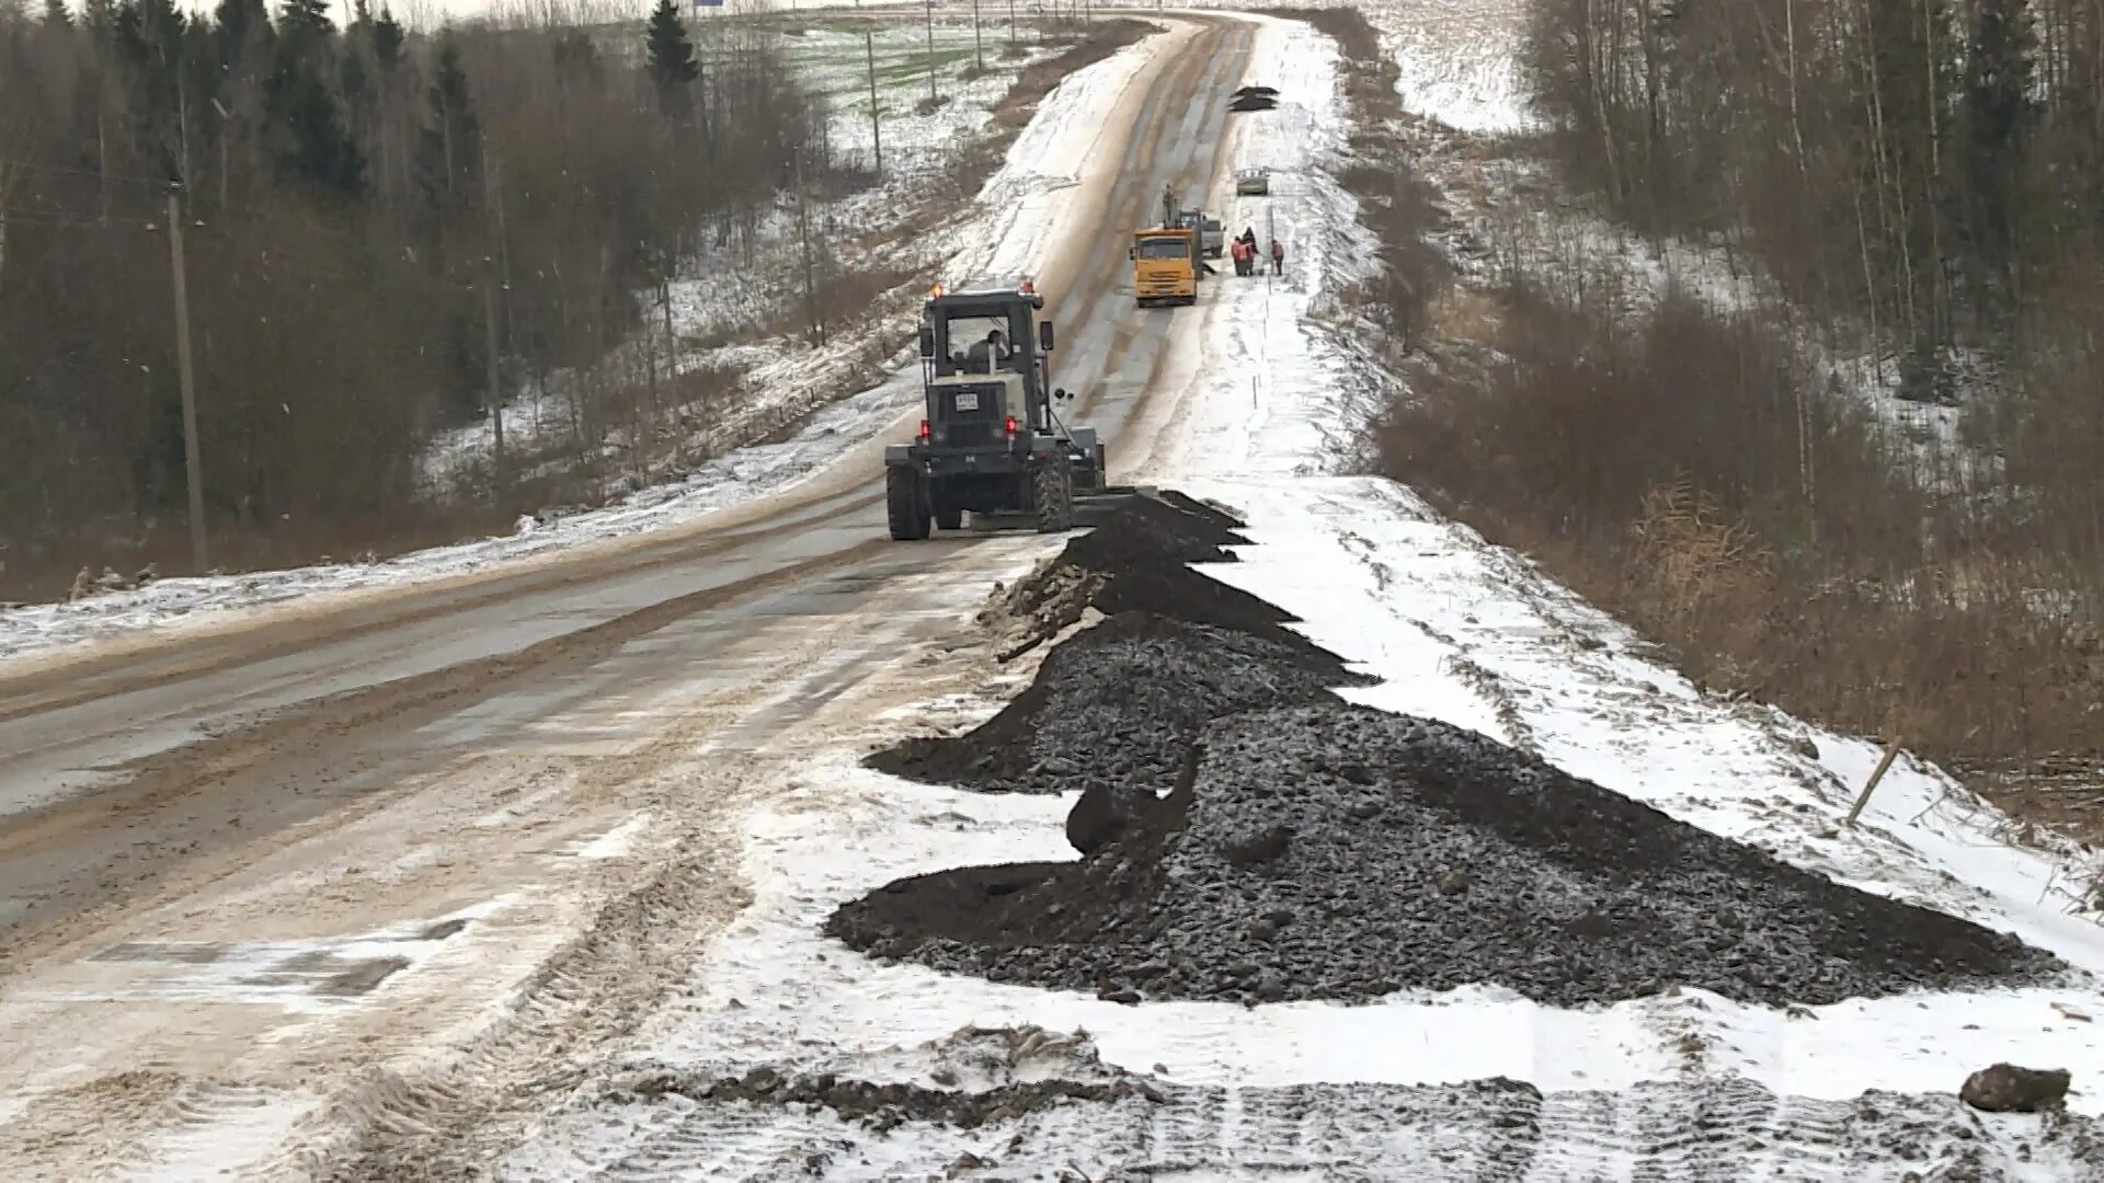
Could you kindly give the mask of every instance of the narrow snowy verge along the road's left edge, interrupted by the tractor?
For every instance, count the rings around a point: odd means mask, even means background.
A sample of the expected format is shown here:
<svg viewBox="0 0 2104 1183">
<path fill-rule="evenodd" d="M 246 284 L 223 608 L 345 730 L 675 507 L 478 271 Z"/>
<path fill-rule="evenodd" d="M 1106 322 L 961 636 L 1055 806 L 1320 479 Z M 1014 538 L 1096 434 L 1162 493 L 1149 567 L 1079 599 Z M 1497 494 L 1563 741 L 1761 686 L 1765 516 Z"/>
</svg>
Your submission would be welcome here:
<svg viewBox="0 0 2104 1183">
<path fill-rule="evenodd" d="M 949 267 L 993 274 L 1025 269 L 1054 246 L 1058 221 L 1071 213 L 1071 189 L 1090 160 L 1100 128 L 1126 88 L 1140 78 L 1151 46 L 1140 42 L 1084 67 L 1060 82 L 1037 107 L 1002 168 L 980 189 L 976 208 L 930 236 Z M 905 333 L 909 320 L 886 324 Z M 749 381 L 776 381 L 787 392 L 821 389 L 842 381 L 867 343 L 842 341 L 833 352 L 785 356 L 755 368 Z M 850 398 L 827 404 L 791 438 L 736 448 L 690 472 L 677 484 L 644 488 L 614 505 L 555 520 L 524 524 L 518 535 L 433 547 L 385 562 L 343 562 L 295 570 L 162 579 L 130 592 L 112 592 L 72 604 L 29 604 L 0 610 L 0 661 L 63 646 L 145 631 L 177 629 L 227 613 L 303 600 L 320 594 L 387 589 L 469 573 L 494 564 L 549 556 L 560 549 L 663 530 L 722 509 L 772 497 L 825 472 L 846 448 L 873 438 L 917 396 L 911 347 L 884 358 L 888 377 Z M 787 398 L 787 396 L 785 396 Z"/>
</svg>

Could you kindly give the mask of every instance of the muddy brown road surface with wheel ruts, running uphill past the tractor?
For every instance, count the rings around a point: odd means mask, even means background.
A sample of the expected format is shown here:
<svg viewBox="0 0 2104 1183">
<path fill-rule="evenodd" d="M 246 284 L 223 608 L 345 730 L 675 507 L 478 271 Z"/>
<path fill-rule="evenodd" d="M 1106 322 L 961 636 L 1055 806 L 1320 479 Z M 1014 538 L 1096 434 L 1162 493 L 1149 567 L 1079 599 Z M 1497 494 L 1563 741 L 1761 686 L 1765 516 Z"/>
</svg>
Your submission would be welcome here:
<svg viewBox="0 0 2104 1183">
<path fill-rule="evenodd" d="M 1185 17 L 1149 42 L 1037 274 L 1113 480 L 1157 450 L 1193 324 L 1132 307 L 1128 232 L 1164 183 L 1222 181 L 1252 40 Z M 741 808 L 983 678 L 951 659 L 985 648 L 972 606 L 1056 547 L 888 541 L 882 444 L 686 528 L 0 680 L 0 1162 L 501 1145 L 734 916 Z"/>
</svg>

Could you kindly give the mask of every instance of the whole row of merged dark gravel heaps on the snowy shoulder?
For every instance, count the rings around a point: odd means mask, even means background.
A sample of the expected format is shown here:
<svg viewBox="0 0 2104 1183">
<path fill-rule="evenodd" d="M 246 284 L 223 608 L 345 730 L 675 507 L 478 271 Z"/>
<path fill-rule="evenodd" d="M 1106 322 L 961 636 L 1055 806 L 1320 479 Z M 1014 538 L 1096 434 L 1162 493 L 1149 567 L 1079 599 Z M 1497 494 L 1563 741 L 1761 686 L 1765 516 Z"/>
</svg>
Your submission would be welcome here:
<svg viewBox="0 0 2104 1183">
<path fill-rule="evenodd" d="M 1149 558 L 1176 547 L 1117 549 L 1145 575 L 1084 552 L 1096 585 L 1119 587 L 1115 610 L 1094 602 L 1107 619 L 1058 644 L 1006 711 L 873 760 L 974 789 L 1086 789 L 1067 823 L 1084 859 L 898 880 L 839 907 L 829 935 L 1121 1002 L 1502 985 L 1580 1006 L 1687 985 L 1826 1004 L 2066 973 L 2016 937 L 1839 886 L 1483 735 L 1347 705 L 1323 688 L 1349 680 L 1342 663 L 1277 615 Z M 1191 619 L 1222 600 L 1248 627 Z"/>
</svg>

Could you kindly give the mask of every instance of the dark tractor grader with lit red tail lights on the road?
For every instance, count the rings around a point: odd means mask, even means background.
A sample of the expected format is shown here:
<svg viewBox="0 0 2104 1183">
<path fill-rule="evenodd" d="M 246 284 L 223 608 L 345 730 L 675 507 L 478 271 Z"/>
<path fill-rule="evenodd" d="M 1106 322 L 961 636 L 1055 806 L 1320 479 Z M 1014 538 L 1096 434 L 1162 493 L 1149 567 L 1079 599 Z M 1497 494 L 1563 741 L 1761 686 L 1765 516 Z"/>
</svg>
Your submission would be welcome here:
<svg viewBox="0 0 2104 1183">
<path fill-rule="evenodd" d="M 911 444 L 884 450 L 894 539 L 964 514 L 1033 514 L 1037 528 L 1073 524 L 1073 497 L 1102 488 L 1102 446 L 1060 423 L 1052 387 L 1052 322 L 1035 284 L 989 282 L 930 290 L 922 309 L 924 417 Z"/>
</svg>

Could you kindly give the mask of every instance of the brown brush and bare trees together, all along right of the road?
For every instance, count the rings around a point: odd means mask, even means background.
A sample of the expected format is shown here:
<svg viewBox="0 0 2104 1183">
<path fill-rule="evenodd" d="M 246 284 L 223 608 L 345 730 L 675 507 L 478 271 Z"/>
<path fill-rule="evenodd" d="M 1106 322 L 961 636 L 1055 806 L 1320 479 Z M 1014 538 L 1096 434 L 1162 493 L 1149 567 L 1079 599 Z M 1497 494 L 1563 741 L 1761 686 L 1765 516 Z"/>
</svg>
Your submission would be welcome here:
<svg viewBox="0 0 2104 1183">
<path fill-rule="evenodd" d="M 1496 282 L 1441 293 L 1380 469 L 1713 688 L 1982 787 L 2093 777 L 2104 0 L 1528 15 L 1546 131 L 1519 147 L 1620 227 L 1774 284 L 1656 293 L 1591 221 L 1513 219 Z M 1959 400 L 1957 434 L 1896 429 L 1858 358 Z"/>
</svg>

